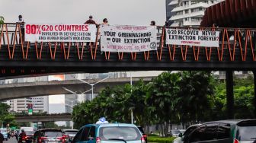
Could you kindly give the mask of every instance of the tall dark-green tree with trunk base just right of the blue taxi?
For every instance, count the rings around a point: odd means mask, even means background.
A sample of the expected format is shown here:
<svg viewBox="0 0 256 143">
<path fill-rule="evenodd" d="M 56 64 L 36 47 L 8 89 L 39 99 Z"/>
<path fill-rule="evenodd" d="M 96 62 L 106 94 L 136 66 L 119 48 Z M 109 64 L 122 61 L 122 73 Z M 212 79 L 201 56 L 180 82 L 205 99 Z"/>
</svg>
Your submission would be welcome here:
<svg viewBox="0 0 256 143">
<path fill-rule="evenodd" d="M 153 106 L 151 113 L 156 116 L 161 124 L 162 135 L 168 132 L 171 121 L 177 120 L 178 86 L 181 76 L 178 73 L 163 72 L 157 78 L 153 78 L 148 84 L 150 94 L 147 94 L 146 103 Z"/>
</svg>

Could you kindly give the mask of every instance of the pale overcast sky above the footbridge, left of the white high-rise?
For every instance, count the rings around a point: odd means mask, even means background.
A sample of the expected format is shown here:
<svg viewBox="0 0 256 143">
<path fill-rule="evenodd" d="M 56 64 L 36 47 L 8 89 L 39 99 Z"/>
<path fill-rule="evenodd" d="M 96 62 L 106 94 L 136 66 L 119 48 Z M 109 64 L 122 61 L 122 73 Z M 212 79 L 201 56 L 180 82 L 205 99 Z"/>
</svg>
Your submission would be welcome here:
<svg viewBox="0 0 256 143">
<path fill-rule="evenodd" d="M 165 24 L 165 0 L 0 0 L 5 22 L 82 24 L 91 14 L 97 23 L 107 17 L 110 24 Z"/>
</svg>

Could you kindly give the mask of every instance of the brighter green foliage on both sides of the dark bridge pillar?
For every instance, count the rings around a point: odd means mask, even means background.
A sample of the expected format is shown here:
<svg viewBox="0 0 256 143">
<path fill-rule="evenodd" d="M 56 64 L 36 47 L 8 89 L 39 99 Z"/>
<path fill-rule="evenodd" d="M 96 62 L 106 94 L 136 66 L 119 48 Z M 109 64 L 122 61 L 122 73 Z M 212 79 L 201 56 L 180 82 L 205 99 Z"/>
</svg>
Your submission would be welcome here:
<svg viewBox="0 0 256 143">
<path fill-rule="evenodd" d="M 235 119 L 254 118 L 254 79 L 234 78 Z M 226 119 L 226 81 L 216 81 L 212 119 Z"/>
</svg>

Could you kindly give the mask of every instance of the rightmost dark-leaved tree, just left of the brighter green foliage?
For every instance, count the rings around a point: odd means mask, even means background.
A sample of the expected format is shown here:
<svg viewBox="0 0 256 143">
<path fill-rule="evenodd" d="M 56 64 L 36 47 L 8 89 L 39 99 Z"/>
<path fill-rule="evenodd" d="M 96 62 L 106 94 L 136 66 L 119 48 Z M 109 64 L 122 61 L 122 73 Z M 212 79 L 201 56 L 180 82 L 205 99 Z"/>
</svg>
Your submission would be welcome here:
<svg viewBox="0 0 256 143">
<path fill-rule="evenodd" d="M 209 119 L 213 100 L 213 77 L 210 71 L 182 71 L 179 92 L 181 122 Z"/>
</svg>

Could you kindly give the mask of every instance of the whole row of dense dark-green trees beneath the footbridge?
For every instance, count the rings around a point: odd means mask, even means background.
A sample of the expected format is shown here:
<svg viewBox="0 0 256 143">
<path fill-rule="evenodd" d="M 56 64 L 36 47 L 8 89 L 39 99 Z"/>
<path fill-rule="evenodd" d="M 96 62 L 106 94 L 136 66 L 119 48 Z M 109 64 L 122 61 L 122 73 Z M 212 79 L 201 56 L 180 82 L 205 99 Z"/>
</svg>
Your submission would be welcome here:
<svg viewBox="0 0 256 143">
<path fill-rule="evenodd" d="M 214 109 L 219 108 L 215 103 L 223 104 L 220 96 L 213 96 L 214 84 L 219 83 L 206 71 L 164 72 L 148 84 L 139 81 L 133 87 L 104 88 L 94 100 L 75 106 L 72 119 L 75 128 L 102 116 L 109 122 L 130 122 L 133 110 L 137 125 L 158 124 L 164 135 L 170 123 L 206 121 L 214 116 Z"/>
</svg>

